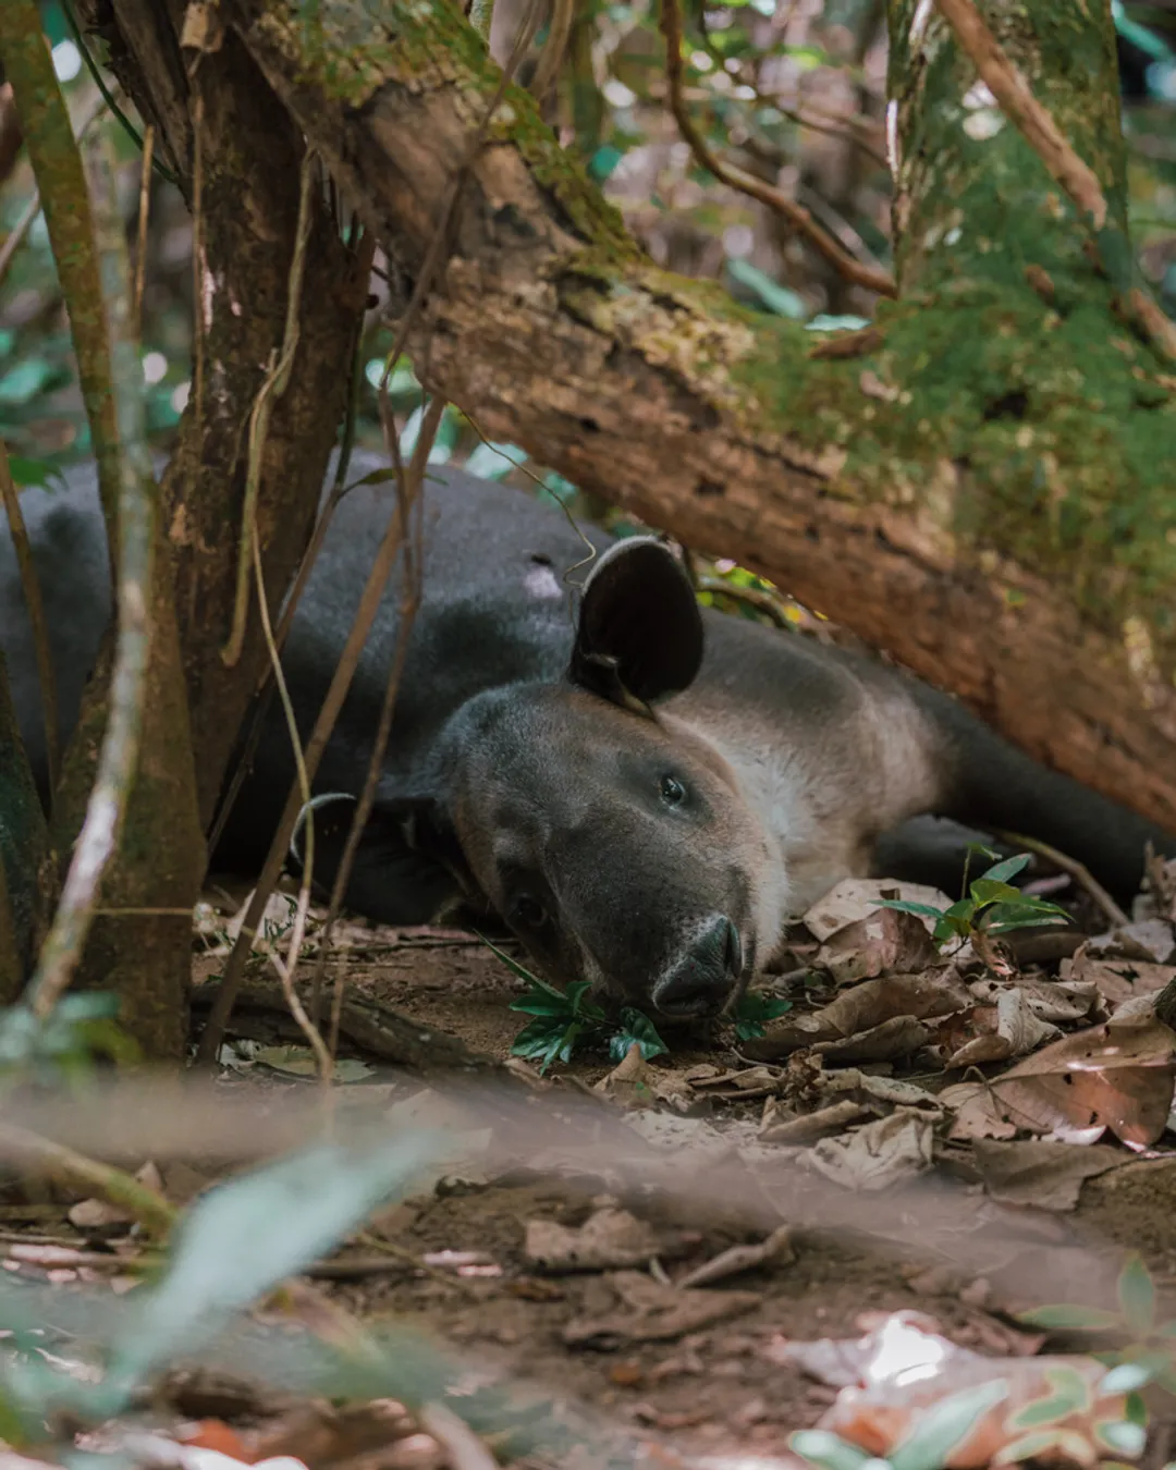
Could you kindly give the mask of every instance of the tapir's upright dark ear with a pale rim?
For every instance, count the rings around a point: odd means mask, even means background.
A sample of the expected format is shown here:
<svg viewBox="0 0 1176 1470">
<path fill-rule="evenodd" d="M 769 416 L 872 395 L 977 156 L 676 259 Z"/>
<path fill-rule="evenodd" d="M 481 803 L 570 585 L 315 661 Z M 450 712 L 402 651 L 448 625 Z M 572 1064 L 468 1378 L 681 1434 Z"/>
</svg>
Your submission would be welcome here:
<svg viewBox="0 0 1176 1470">
<path fill-rule="evenodd" d="M 651 537 L 617 541 L 584 588 L 572 682 L 639 709 L 689 688 L 701 663 L 703 616 L 673 553 Z"/>
</svg>

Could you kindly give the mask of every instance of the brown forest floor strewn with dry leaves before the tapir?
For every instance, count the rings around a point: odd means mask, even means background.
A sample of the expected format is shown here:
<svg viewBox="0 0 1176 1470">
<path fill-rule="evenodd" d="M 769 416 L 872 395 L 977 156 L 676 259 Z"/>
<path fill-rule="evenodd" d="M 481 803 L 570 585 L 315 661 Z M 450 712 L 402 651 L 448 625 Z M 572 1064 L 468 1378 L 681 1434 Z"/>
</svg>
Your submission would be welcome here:
<svg viewBox="0 0 1176 1470">
<path fill-rule="evenodd" d="M 832 945 L 801 933 L 800 964 L 775 980 L 791 1010 L 766 1036 L 684 1035 L 619 1067 L 585 1053 L 545 1078 L 510 1057 L 529 1019 L 510 1008 L 525 985 L 476 938 L 344 925 L 329 973 L 345 975 L 347 995 L 412 1017 L 426 1039 L 457 1038 L 488 1060 L 470 1073 L 488 1091 L 451 1095 L 441 1078 L 373 1054 L 379 1045 L 350 1044 L 344 1023 L 344 1113 L 359 1102 L 390 1127 L 440 1122 L 457 1152 L 316 1269 L 319 1310 L 423 1326 L 470 1382 L 498 1382 L 578 1426 L 578 1455 L 544 1451 L 538 1435 L 529 1466 L 632 1463 L 635 1445 L 656 1464 L 795 1466 L 789 1436 L 819 1423 L 878 1454 L 978 1380 L 1004 1379 L 1010 1401 L 1032 1408 L 1054 1392 L 1054 1354 L 1094 1385 L 1104 1369 L 1091 1370 L 1091 1347 L 1142 1333 L 1170 1348 L 1160 1324 L 1176 1285 L 1173 1038 L 1148 1013 L 1176 973 L 1170 917 L 1075 939 L 1044 964 L 1008 951 L 945 964 L 917 919 L 891 913 L 879 929 L 876 913 L 850 926 L 845 913 L 831 917 Z M 1100 920 L 1082 917 L 1094 933 Z M 197 995 L 223 964 L 223 919 L 201 941 Z M 313 948 L 312 931 L 307 980 Z M 256 957 L 254 978 L 265 970 Z M 315 1095 L 288 1017 L 241 1013 L 222 1058 L 219 1085 L 251 1098 L 259 1119 Z M 495 1116 L 495 1089 L 513 1114 Z M 162 1166 L 181 1202 L 215 1177 L 212 1166 Z M 51 1238 L 110 1248 L 109 1229 L 100 1242 L 65 1219 Z M 6 1264 L 35 1272 L 35 1252 Z M 71 1274 L 68 1263 L 56 1270 Z M 1139 1282 L 1152 1302 L 1142 1323 L 1126 1299 Z M 1135 1313 L 1117 1336 L 1020 1316 L 1060 1302 L 1119 1311 L 1117 1295 Z M 925 1360 L 914 1389 L 895 1354 L 907 1369 Z M 1155 1385 L 1147 1394 L 1144 1463 L 1158 1467 L 1176 1413 Z M 228 1436 L 253 1458 L 490 1464 L 476 1457 L 487 1441 L 463 1458 L 470 1446 L 448 1421 L 403 1410 L 391 1444 L 356 1451 L 325 1404 L 272 1385 L 250 1396 L 188 1377 L 173 1408 L 218 1426 L 209 1444 Z M 1091 1391 L 1047 1420 L 1105 1458 L 1098 1420 L 1122 1408 Z M 963 1463 L 986 1464 L 1016 1438 L 1007 1424 L 994 1433 Z M 506 1441 L 497 1448 L 516 1461 Z"/>
</svg>

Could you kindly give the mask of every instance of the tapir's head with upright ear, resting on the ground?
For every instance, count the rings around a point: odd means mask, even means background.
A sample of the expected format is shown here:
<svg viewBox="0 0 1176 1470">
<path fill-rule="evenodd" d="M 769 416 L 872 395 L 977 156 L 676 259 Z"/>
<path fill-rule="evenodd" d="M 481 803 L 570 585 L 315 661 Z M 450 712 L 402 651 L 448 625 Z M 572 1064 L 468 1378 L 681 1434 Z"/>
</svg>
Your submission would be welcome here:
<svg viewBox="0 0 1176 1470">
<path fill-rule="evenodd" d="M 675 557 L 619 542 L 585 585 L 566 676 L 465 706 L 442 739 L 444 794 L 413 822 L 419 850 L 485 895 L 551 979 L 676 1017 L 741 994 L 784 903 L 735 773 L 673 713 L 701 659 Z"/>
</svg>

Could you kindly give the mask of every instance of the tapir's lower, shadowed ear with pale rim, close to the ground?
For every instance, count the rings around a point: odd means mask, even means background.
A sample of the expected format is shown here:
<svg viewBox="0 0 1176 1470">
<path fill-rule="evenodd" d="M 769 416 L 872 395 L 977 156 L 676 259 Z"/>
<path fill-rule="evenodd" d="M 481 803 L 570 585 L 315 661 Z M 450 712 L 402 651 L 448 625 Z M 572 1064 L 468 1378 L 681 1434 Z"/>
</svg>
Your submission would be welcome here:
<svg viewBox="0 0 1176 1470">
<path fill-rule="evenodd" d="M 306 826 L 315 822 L 315 888 L 329 892 L 356 813 L 348 792 L 325 792 L 298 813 L 291 866 L 306 860 Z M 472 881 L 457 836 L 434 797 L 376 800 L 359 839 L 344 903 L 375 923 L 423 925 Z"/>
</svg>

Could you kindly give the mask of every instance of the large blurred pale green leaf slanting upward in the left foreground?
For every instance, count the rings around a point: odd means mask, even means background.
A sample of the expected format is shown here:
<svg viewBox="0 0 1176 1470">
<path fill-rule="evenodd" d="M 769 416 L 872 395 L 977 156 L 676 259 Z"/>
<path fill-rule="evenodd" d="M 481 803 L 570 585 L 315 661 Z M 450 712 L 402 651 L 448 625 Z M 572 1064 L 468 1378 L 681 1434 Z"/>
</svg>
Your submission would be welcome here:
<svg viewBox="0 0 1176 1470">
<path fill-rule="evenodd" d="M 106 1388 L 125 1401 L 178 1352 L 209 1342 L 378 1204 L 410 1189 L 438 1152 L 437 1136 L 422 1132 L 363 1148 L 318 1144 L 201 1195 L 176 1232 L 166 1274 L 135 1297 Z"/>
</svg>

